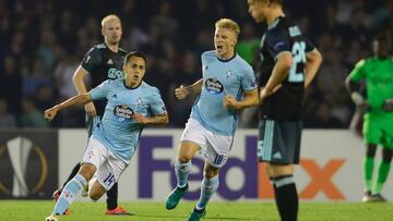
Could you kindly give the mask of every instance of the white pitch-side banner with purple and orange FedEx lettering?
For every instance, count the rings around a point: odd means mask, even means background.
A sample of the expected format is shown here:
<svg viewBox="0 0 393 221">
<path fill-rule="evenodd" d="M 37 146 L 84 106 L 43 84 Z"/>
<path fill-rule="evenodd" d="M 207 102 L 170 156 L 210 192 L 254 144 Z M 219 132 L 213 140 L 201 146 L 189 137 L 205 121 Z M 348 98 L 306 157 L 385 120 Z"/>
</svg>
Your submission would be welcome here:
<svg viewBox="0 0 393 221">
<path fill-rule="evenodd" d="M 143 132 L 139 150 L 120 179 L 120 200 L 165 200 L 176 185 L 174 164 L 181 132 Z M 59 183 L 67 179 L 74 164 L 82 159 L 86 142 L 84 130 L 60 130 Z M 219 188 L 214 200 L 273 199 L 264 164 L 257 160 L 257 130 L 239 130 L 236 133 L 231 156 L 219 172 Z M 360 200 L 364 192 L 364 152 L 360 138 L 348 131 L 303 131 L 301 162 L 295 172 L 300 199 Z M 190 188 L 184 197 L 190 200 L 198 199 L 200 194 L 203 158 L 194 158 L 192 164 Z M 392 185 L 392 179 L 389 179 L 383 191 L 388 198 L 393 196 L 393 189 L 389 188 Z"/>
</svg>

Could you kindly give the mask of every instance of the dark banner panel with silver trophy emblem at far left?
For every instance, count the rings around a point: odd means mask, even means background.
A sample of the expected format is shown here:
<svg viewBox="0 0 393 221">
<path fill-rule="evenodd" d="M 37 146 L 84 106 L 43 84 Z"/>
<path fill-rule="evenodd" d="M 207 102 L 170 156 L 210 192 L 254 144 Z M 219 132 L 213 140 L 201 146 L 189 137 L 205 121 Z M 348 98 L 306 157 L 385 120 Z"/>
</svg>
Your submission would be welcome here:
<svg viewBox="0 0 393 221">
<path fill-rule="evenodd" d="M 0 130 L 0 199 L 51 198 L 58 185 L 58 132 Z"/>
</svg>

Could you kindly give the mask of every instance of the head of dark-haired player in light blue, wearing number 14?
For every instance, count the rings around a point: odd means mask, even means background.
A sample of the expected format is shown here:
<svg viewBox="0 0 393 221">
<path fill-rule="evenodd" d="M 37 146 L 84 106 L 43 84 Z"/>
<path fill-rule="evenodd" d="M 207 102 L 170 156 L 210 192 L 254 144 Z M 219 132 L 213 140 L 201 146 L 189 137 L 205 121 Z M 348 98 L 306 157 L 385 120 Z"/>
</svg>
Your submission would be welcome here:
<svg viewBox="0 0 393 221">
<path fill-rule="evenodd" d="M 135 87 L 141 84 L 146 72 L 145 61 L 140 57 L 131 57 L 123 66 L 123 71 L 126 73 L 126 81 L 129 86 Z"/>
</svg>

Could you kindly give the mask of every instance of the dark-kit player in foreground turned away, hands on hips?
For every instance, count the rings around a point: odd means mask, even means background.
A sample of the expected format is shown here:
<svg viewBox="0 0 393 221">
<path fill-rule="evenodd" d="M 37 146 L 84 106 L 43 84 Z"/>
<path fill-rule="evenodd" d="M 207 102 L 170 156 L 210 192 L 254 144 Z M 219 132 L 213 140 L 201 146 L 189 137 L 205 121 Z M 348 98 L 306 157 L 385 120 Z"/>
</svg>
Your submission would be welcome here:
<svg viewBox="0 0 393 221">
<path fill-rule="evenodd" d="M 305 88 L 314 78 L 321 53 L 283 12 L 282 0 L 248 0 L 257 23 L 266 23 L 260 59 L 258 158 L 266 162 L 282 220 L 297 220 L 294 164 L 299 163 Z"/>
</svg>

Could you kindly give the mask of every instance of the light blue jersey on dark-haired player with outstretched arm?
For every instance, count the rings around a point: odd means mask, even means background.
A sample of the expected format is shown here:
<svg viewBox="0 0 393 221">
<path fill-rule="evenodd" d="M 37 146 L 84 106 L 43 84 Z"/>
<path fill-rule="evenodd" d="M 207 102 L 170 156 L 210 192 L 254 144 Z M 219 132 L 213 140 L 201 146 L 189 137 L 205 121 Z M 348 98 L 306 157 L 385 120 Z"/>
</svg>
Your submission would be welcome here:
<svg viewBox="0 0 393 221">
<path fill-rule="evenodd" d="M 103 120 L 95 126 L 92 137 L 126 162 L 136 149 L 143 124 L 131 115 L 144 116 L 166 113 L 164 101 L 157 88 L 142 82 L 136 88 L 126 86 L 124 79 L 105 81 L 90 91 L 93 100 L 107 99 Z"/>
</svg>

